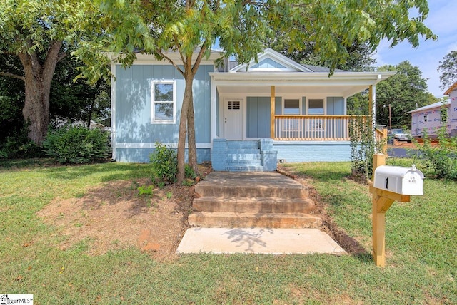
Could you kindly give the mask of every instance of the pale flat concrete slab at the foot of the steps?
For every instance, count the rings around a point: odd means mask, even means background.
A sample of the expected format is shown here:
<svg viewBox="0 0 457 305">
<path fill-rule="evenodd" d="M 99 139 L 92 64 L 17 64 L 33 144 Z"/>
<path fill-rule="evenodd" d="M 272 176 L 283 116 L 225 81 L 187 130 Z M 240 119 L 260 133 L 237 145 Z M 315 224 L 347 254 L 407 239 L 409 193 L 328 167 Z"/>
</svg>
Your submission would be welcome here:
<svg viewBox="0 0 457 305">
<path fill-rule="evenodd" d="M 177 253 L 312 254 L 346 252 L 319 229 L 203 228 L 187 229 Z"/>
</svg>

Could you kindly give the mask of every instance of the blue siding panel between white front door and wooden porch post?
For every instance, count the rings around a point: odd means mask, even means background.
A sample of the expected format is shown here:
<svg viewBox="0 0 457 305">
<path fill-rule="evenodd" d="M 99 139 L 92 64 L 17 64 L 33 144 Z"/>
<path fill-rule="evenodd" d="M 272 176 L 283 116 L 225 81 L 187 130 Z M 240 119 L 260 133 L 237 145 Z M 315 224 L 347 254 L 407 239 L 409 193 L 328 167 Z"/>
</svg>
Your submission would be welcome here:
<svg viewBox="0 0 457 305">
<path fill-rule="evenodd" d="M 268 97 L 246 98 L 246 118 L 248 138 L 269 138 L 271 120 L 271 100 Z"/>
</svg>

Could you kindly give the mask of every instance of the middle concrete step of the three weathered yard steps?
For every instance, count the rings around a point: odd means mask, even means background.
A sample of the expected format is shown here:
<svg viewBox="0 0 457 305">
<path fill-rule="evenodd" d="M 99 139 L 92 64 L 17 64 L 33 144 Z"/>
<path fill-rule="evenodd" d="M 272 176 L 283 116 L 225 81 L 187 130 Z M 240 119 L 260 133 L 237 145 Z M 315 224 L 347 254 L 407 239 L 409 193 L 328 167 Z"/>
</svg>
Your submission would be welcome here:
<svg viewBox="0 0 457 305">
<path fill-rule="evenodd" d="M 211 196 L 195 198 L 192 207 L 197 212 L 310 213 L 315 205 L 302 198 Z"/>
</svg>

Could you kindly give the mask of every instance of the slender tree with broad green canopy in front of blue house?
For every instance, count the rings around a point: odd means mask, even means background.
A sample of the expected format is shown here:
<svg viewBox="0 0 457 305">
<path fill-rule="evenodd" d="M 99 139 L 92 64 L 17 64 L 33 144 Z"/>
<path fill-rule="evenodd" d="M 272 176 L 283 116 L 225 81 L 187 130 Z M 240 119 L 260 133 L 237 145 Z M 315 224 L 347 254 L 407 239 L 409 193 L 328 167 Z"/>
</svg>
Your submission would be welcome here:
<svg viewBox="0 0 457 305">
<path fill-rule="evenodd" d="M 169 61 L 184 76 L 186 88 L 179 120 L 178 180 L 184 177 L 184 148 L 189 142 L 189 162 L 196 166 L 192 83 L 201 59 L 216 41 L 224 56 L 246 63 L 262 50 L 276 31 L 288 33 L 290 47 L 313 43 L 323 60 L 335 68 L 346 60 L 354 43 L 373 51 L 381 39 L 395 46 L 407 40 L 436 38 L 424 24 L 426 1 L 376 0 L 99 0 L 103 14 L 111 15 L 106 31 L 111 51 L 134 50 Z M 410 18 L 409 11 L 418 10 Z M 106 42 L 106 40 L 105 40 Z M 103 43 L 96 43 L 101 46 Z M 106 49 L 105 49 L 106 50 Z M 175 62 L 164 51 L 179 52 Z M 197 55 L 193 57 L 194 51 Z M 121 58 L 124 58 L 121 56 Z M 132 56 L 126 56 L 131 63 Z M 90 76 L 90 73 L 88 74 Z"/>
</svg>

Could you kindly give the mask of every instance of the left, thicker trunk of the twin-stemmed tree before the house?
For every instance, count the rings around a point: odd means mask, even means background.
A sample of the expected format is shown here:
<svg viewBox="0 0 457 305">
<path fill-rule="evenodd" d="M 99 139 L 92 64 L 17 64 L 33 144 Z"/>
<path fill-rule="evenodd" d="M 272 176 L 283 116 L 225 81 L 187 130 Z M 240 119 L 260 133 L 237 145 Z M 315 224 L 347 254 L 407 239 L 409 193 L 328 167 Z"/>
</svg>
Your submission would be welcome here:
<svg viewBox="0 0 457 305">
<path fill-rule="evenodd" d="M 176 175 L 176 180 L 178 182 L 183 182 L 184 180 L 184 156 L 186 153 L 186 135 L 187 135 L 187 115 L 189 112 L 189 106 L 191 104 L 192 95 L 192 85 L 194 83 L 194 76 L 192 75 L 190 69 L 186 71 L 184 76 L 184 81 L 186 86 L 184 88 L 184 98 L 183 104 L 181 106 L 181 115 L 179 118 L 179 138 L 178 138 L 178 174 Z"/>
</svg>

